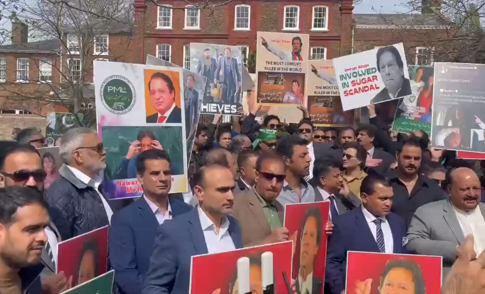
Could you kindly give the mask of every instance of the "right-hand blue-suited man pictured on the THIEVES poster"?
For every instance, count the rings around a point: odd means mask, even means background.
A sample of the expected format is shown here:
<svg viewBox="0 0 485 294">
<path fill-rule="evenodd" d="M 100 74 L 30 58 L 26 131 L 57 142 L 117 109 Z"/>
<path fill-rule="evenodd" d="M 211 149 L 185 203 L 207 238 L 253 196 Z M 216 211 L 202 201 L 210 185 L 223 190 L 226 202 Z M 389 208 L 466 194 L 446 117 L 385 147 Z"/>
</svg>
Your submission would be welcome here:
<svg viewBox="0 0 485 294">
<path fill-rule="evenodd" d="M 236 93 L 241 87 L 241 73 L 238 60 L 231 56 L 231 48 L 224 49 L 224 56 L 219 57 L 215 70 L 215 83 L 222 83 L 222 99 L 226 103 L 238 103 Z"/>
</svg>

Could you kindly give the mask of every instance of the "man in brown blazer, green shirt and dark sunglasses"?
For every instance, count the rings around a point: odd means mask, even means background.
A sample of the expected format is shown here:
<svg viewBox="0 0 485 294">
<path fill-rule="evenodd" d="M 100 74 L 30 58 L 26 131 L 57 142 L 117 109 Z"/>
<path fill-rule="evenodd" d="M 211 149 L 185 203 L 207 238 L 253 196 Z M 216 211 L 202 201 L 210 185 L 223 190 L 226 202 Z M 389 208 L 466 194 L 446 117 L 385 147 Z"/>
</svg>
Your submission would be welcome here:
<svg viewBox="0 0 485 294">
<path fill-rule="evenodd" d="M 245 247 L 293 240 L 283 228 L 284 208 L 276 201 L 283 188 L 286 165 L 273 152 L 263 153 L 256 161 L 256 184 L 234 199 L 234 212 L 241 225 Z"/>
</svg>

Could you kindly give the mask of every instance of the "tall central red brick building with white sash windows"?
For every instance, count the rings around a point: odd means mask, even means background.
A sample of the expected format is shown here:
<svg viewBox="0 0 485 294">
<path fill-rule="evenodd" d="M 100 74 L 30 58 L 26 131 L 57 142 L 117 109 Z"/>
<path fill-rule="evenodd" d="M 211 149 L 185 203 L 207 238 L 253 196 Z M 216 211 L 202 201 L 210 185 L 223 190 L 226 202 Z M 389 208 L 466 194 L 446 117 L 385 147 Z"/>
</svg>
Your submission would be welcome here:
<svg viewBox="0 0 485 294">
<path fill-rule="evenodd" d="M 187 2 L 135 0 L 133 60 L 147 54 L 189 67 L 191 42 L 241 46 L 246 56 L 256 49 L 256 34 L 307 33 L 310 58 L 349 54 L 352 0 L 233 0 L 213 9 L 191 9 Z M 170 8 L 172 7 L 172 8 Z"/>
</svg>

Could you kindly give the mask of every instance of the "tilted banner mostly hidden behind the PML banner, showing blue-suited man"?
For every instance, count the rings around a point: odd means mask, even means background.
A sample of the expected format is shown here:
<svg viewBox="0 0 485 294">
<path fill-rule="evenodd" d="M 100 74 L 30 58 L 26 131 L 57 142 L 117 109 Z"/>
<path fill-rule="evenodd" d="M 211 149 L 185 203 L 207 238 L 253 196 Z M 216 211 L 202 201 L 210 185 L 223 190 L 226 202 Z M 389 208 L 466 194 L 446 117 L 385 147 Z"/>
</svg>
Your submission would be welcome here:
<svg viewBox="0 0 485 294">
<path fill-rule="evenodd" d="M 146 56 L 147 65 L 162 65 L 179 67 L 168 61 L 164 61 L 153 55 Z M 187 161 L 190 159 L 192 153 L 192 146 L 194 145 L 195 131 L 199 122 L 200 106 L 202 98 L 206 91 L 207 79 L 204 76 L 191 72 L 188 69 L 182 68 L 183 75 L 183 100 L 185 107 L 185 135 L 187 136 Z"/>
</svg>

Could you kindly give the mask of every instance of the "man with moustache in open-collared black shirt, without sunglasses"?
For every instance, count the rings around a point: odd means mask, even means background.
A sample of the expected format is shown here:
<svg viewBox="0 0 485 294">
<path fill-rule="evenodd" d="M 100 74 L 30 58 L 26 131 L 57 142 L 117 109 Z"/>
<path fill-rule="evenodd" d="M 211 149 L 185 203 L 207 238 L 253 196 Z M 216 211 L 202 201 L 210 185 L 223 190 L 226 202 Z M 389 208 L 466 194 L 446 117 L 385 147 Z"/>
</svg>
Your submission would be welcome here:
<svg viewBox="0 0 485 294">
<path fill-rule="evenodd" d="M 445 194 L 435 181 L 420 173 L 422 149 L 418 137 L 405 139 L 396 156 L 396 176 L 389 179 L 394 193 L 391 210 L 409 225 L 419 207 L 442 200 Z"/>
</svg>

